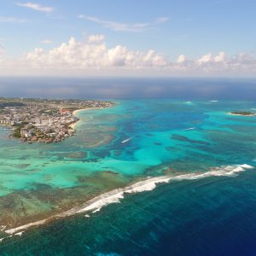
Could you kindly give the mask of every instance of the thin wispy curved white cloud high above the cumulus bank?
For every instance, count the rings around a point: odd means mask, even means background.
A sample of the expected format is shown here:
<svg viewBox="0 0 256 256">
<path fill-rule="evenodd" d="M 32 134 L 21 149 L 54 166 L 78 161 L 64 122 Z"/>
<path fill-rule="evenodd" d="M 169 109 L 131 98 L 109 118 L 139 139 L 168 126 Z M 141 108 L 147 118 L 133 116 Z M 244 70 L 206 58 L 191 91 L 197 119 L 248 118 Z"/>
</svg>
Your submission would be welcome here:
<svg viewBox="0 0 256 256">
<path fill-rule="evenodd" d="M 112 20 L 101 20 L 96 17 L 79 15 L 79 19 L 89 20 L 103 27 L 109 28 L 117 32 L 142 32 L 143 30 L 153 27 L 157 24 L 161 24 L 169 20 L 168 17 L 160 17 L 153 22 L 143 22 L 143 23 L 121 23 Z"/>
</svg>

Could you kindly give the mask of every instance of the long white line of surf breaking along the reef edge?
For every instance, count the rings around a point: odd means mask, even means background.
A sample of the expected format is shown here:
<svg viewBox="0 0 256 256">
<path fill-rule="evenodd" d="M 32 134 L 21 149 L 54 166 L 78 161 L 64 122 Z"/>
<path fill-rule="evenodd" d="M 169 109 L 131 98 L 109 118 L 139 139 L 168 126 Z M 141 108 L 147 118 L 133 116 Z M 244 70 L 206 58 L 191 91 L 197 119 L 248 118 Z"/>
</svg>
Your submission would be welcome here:
<svg viewBox="0 0 256 256">
<path fill-rule="evenodd" d="M 22 232 L 28 230 L 29 228 L 47 224 L 51 221 L 54 221 L 55 219 L 66 218 L 79 213 L 89 212 L 90 214 L 93 214 L 95 212 L 100 211 L 102 207 L 105 207 L 108 204 L 119 203 L 120 200 L 125 197 L 125 195 L 137 194 L 143 191 L 153 190 L 159 183 L 170 183 L 170 181 L 178 182 L 183 180 L 197 180 L 206 177 L 234 177 L 237 175 L 238 172 L 245 172 L 247 169 L 254 169 L 254 166 L 249 166 L 247 164 L 234 166 L 220 166 L 210 169 L 209 172 L 191 172 L 179 173 L 176 176 L 166 175 L 159 177 L 147 177 L 137 183 L 131 183 L 126 185 L 125 187 L 119 187 L 117 189 L 112 189 L 106 193 L 97 195 L 90 199 L 89 201 L 85 201 L 84 204 L 78 207 L 73 207 L 67 210 L 66 212 L 57 213 L 53 216 L 49 216 L 49 218 L 44 218 L 36 222 L 24 224 L 8 230 L 3 229 L 2 231 L 9 236 L 1 237 L 0 241 L 3 241 L 3 239 L 11 236 L 22 234 Z M 86 214 L 84 216 L 87 218 L 90 217 L 89 214 Z"/>
</svg>

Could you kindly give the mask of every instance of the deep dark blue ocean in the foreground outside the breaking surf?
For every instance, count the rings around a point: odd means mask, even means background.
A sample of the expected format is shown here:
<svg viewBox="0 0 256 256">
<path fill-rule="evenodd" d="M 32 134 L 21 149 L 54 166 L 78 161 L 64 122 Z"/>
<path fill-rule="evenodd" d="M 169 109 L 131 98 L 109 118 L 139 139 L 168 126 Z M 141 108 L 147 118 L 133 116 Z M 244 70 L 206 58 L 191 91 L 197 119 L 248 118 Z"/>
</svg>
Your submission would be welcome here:
<svg viewBox="0 0 256 256">
<path fill-rule="evenodd" d="M 255 171 L 254 171 L 255 172 Z M 161 185 L 10 239 L 1 255 L 255 255 L 255 173 Z"/>
</svg>

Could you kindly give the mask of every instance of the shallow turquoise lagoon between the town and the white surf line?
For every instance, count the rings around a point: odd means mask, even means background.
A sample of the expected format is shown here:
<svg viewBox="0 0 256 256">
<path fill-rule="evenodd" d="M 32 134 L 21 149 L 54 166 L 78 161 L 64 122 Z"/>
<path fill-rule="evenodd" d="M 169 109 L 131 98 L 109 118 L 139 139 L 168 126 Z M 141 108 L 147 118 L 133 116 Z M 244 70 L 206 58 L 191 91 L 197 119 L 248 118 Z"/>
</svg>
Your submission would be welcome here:
<svg viewBox="0 0 256 256">
<path fill-rule="evenodd" d="M 1 225 L 63 212 L 148 176 L 254 166 L 255 117 L 227 114 L 252 108 L 255 102 L 121 101 L 80 112 L 77 136 L 54 144 L 19 143 L 1 129 Z"/>
</svg>

